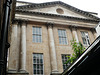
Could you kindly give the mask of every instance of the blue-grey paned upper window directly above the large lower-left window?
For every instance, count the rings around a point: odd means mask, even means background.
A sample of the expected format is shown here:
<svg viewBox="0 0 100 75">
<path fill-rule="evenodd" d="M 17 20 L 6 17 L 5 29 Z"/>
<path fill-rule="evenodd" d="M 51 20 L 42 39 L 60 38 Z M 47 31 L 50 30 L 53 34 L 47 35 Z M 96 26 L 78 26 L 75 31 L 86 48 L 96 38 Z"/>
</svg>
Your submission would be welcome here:
<svg viewBox="0 0 100 75">
<path fill-rule="evenodd" d="M 34 27 L 33 26 L 33 42 L 36 42 L 36 43 L 42 42 L 41 27 Z"/>
</svg>

